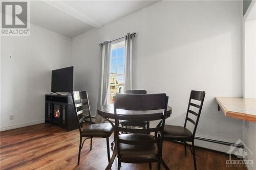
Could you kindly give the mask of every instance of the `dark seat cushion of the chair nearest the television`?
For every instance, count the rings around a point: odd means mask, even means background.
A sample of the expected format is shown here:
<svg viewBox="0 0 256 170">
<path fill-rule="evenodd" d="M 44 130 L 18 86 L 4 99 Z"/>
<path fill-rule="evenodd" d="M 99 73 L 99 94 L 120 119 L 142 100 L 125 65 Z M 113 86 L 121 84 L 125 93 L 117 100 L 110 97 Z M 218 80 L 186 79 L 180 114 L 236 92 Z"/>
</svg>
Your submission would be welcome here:
<svg viewBox="0 0 256 170">
<path fill-rule="evenodd" d="M 82 137 L 110 137 L 113 132 L 111 124 L 92 124 L 82 130 Z"/>
</svg>

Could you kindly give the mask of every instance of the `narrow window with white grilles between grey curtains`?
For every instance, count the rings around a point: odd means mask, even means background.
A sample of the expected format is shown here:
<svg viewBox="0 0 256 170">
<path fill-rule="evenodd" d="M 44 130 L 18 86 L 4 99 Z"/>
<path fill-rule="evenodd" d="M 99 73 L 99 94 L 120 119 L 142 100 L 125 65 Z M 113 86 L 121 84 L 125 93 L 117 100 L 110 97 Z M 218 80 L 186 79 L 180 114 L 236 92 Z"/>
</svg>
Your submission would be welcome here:
<svg viewBox="0 0 256 170">
<path fill-rule="evenodd" d="M 123 93 L 125 54 L 124 40 L 111 45 L 111 64 L 110 64 L 110 94 L 109 101 L 114 102 L 116 93 Z"/>
</svg>

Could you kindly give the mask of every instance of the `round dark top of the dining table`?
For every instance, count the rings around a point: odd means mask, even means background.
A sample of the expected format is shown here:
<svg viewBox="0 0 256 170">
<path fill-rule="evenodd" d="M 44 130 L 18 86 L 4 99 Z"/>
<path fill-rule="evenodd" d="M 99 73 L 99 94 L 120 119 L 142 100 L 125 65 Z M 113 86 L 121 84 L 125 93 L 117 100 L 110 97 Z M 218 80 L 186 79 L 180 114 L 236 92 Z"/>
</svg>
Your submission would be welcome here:
<svg viewBox="0 0 256 170">
<path fill-rule="evenodd" d="M 118 114 L 136 114 L 136 115 L 143 115 L 143 114 L 155 114 L 155 113 L 162 113 L 163 109 L 160 110 L 147 110 L 147 111 L 141 111 L 141 110 L 122 110 L 122 109 L 117 109 Z M 104 118 L 115 118 L 115 113 L 114 113 L 114 104 L 109 104 L 105 106 L 100 106 L 98 107 L 98 114 Z M 167 117 L 172 114 L 172 107 L 167 106 Z"/>
</svg>

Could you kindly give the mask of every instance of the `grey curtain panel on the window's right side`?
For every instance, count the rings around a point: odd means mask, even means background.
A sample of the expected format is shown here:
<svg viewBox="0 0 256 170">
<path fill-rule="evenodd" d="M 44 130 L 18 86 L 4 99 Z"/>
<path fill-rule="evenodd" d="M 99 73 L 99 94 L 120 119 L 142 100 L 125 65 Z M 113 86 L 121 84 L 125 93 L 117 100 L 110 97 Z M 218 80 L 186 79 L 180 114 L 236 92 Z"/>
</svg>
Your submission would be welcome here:
<svg viewBox="0 0 256 170">
<path fill-rule="evenodd" d="M 133 62 L 134 62 L 135 33 L 128 33 L 125 37 L 125 77 L 124 91 L 133 89 Z"/>
</svg>

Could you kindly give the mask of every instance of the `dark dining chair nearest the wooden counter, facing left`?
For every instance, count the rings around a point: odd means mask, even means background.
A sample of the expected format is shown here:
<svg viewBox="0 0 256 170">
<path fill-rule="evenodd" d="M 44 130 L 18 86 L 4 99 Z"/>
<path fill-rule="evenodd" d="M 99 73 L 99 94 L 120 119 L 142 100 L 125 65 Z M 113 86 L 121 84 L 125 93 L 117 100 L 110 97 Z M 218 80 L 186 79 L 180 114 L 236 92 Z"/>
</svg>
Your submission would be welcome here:
<svg viewBox="0 0 256 170">
<path fill-rule="evenodd" d="M 193 152 L 191 151 L 190 146 L 189 146 L 189 148 L 190 148 L 191 153 L 193 154 L 195 170 L 197 169 L 197 163 L 196 163 L 194 139 L 195 139 L 195 134 L 196 134 L 196 130 L 197 130 L 197 125 L 199 122 L 199 117 L 200 117 L 201 110 L 202 110 L 203 103 L 204 103 L 204 96 L 205 96 L 204 91 L 192 90 L 190 92 L 184 126 L 165 125 L 164 133 L 163 133 L 163 140 L 183 142 L 184 149 L 185 149 L 185 155 L 187 154 L 186 153 L 186 142 L 192 142 Z M 191 100 L 193 100 L 193 101 L 191 101 Z M 195 104 L 195 103 L 198 103 L 198 104 Z M 195 111 L 193 111 L 193 110 L 195 110 Z M 194 128 L 193 133 L 187 128 L 187 123 L 190 123 L 192 128 Z"/>
</svg>

